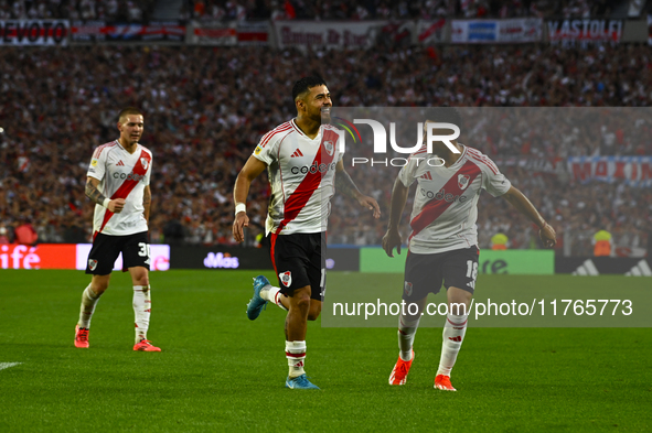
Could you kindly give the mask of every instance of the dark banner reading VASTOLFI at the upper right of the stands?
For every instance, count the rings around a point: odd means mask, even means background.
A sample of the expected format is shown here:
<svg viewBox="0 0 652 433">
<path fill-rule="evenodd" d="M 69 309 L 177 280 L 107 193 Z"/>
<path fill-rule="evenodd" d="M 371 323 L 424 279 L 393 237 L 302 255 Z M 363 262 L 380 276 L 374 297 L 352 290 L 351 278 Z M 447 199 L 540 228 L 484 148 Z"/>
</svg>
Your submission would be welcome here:
<svg viewBox="0 0 652 433">
<path fill-rule="evenodd" d="M 577 19 L 548 20 L 551 42 L 620 42 L 622 20 Z"/>
</svg>

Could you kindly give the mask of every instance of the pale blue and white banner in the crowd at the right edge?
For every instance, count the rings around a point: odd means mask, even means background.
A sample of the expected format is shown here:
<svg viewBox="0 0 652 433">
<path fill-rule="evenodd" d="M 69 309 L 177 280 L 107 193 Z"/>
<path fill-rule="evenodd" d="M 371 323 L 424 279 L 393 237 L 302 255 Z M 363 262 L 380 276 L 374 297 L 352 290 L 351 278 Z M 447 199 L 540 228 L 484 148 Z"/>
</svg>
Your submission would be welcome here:
<svg viewBox="0 0 652 433">
<path fill-rule="evenodd" d="M 568 172 L 575 182 L 622 182 L 652 186 L 652 156 L 571 156 Z"/>
</svg>

